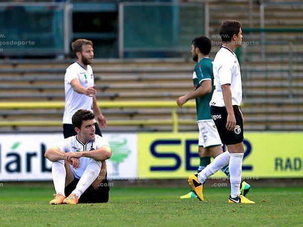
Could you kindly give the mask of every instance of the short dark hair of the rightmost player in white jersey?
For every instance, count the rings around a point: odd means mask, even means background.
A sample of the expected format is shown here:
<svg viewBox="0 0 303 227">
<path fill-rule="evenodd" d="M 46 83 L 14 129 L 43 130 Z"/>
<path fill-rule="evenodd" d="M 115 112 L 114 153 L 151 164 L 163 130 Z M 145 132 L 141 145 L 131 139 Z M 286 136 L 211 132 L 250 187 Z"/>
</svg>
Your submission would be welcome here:
<svg viewBox="0 0 303 227">
<path fill-rule="evenodd" d="M 231 41 L 231 37 L 234 34 L 235 35 L 239 34 L 241 26 L 242 24 L 238 21 L 232 21 L 232 20 L 223 21 L 219 29 L 219 34 L 221 36 L 222 42 Z"/>
</svg>

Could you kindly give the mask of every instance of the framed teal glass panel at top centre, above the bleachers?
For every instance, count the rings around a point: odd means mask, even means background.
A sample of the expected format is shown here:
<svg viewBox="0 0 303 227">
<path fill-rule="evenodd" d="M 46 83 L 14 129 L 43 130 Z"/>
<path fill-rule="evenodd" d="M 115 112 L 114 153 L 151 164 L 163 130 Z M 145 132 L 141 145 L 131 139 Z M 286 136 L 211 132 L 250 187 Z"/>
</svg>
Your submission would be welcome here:
<svg viewBox="0 0 303 227">
<path fill-rule="evenodd" d="M 208 12 L 204 3 L 120 3 L 120 58 L 188 51 L 192 37 L 208 33 Z"/>
</svg>

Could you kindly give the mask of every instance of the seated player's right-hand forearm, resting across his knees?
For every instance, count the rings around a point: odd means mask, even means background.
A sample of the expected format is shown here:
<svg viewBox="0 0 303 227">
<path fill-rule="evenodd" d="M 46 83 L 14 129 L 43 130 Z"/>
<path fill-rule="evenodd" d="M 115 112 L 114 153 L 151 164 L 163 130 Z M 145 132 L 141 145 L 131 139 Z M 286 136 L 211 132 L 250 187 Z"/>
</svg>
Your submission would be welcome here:
<svg viewBox="0 0 303 227">
<path fill-rule="evenodd" d="M 112 156 L 112 150 L 109 146 L 104 145 L 99 149 L 92 151 L 68 152 L 64 154 L 64 159 L 70 160 L 72 157 L 89 157 L 96 161 L 104 161 Z"/>
</svg>

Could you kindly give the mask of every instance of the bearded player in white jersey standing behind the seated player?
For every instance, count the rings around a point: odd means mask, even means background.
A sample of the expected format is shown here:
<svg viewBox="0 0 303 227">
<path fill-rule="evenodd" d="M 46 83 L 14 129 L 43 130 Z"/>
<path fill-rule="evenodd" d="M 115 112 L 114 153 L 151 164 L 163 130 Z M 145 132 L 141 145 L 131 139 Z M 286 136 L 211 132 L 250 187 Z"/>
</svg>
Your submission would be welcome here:
<svg viewBox="0 0 303 227">
<path fill-rule="evenodd" d="M 92 42 L 87 39 L 77 39 L 72 43 L 72 50 L 77 61 L 66 69 L 64 77 L 65 108 L 63 115 L 64 138 L 76 135 L 72 125 L 72 116 L 78 109 L 88 109 L 94 112 L 100 127 L 105 128 L 107 122 L 97 105 L 96 89 L 93 73 L 89 64 L 93 61 Z M 96 134 L 102 136 L 95 123 Z"/>
</svg>

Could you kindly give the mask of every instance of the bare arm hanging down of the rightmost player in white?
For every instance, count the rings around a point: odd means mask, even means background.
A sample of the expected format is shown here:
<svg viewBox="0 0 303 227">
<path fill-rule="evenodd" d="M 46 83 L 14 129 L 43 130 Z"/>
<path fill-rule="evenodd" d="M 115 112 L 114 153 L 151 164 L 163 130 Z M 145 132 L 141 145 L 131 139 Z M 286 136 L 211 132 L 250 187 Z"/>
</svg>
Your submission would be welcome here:
<svg viewBox="0 0 303 227">
<path fill-rule="evenodd" d="M 232 107 L 230 84 L 223 84 L 221 85 L 221 88 L 222 88 L 224 104 L 227 110 L 226 129 L 229 131 L 233 131 L 236 127 L 236 118 Z"/>
</svg>

